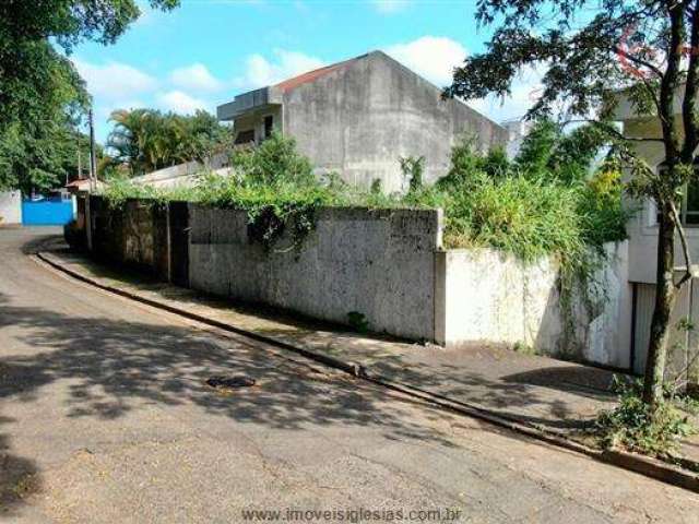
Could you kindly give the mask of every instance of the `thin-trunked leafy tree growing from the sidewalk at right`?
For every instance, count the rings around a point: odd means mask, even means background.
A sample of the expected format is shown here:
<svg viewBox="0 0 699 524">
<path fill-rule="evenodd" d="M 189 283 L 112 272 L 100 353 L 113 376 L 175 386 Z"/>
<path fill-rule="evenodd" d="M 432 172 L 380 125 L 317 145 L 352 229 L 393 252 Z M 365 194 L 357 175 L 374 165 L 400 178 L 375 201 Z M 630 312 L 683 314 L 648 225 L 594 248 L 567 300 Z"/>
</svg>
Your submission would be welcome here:
<svg viewBox="0 0 699 524">
<path fill-rule="evenodd" d="M 493 37 L 484 52 L 454 70 L 446 94 L 503 96 L 522 69 L 545 70 L 530 117 L 552 115 L 562 106 L 571 116 L 599 122 L 625 147 L 635 177 L 630 189 L 657 205 L 657 293 L 643 391 L 654 413 L 663 398 L 671 312 L 679 289 L 691 277 L 677 201 L 696 177 L 699 0 L 478 0 L 477 20 L 495 28 Z M 636 111 L 659 118 L 657 136 L 620 136 L 608 123 L 619 90 Z M 638 141 L 660 144 L 666 169 L 654 171 L 640 162 L 632 147 Z M 687 265 L 678 279 L 674 276 L 676 237 Z"/>
</svg>

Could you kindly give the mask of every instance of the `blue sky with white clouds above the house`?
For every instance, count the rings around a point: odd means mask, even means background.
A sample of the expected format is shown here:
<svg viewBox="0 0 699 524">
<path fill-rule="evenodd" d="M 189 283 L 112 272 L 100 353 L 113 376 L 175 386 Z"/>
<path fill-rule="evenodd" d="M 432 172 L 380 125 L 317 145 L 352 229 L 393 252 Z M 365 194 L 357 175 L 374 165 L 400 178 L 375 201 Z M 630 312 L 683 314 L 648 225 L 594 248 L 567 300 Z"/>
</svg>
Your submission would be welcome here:
<svg viewBox="0 0 699 524">
<path fill-rule="evenodd" d="M 473 0 L 182 0 L 169 13 L 143 8 L 114 46 L 75 49 L 104 141 L 117 108 L 192 112 L 237 93 L 325 63 L 382 49 L 437 85 L 483 49 Z M 471 104 L 495 120 L 523 115 L 536 88 L 524 73 L 505 100 Z"/>
</svg>

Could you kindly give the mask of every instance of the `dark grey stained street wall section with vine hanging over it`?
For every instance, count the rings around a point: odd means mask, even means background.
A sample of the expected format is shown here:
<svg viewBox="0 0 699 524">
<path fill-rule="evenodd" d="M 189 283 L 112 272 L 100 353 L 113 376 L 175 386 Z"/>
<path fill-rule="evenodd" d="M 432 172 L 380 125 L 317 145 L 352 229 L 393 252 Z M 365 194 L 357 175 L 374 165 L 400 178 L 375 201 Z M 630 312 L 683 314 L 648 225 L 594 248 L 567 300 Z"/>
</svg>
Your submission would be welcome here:
<svg viewBox="0 0 699 524">
<path fill-rule="evenodd" d="M 190 286 L 369 329 L 434 340 L 437 211 L 324 209 L 298 249 L 282 237 L 265 252 L 244 211 L 190 205 Z"/>
</svg>

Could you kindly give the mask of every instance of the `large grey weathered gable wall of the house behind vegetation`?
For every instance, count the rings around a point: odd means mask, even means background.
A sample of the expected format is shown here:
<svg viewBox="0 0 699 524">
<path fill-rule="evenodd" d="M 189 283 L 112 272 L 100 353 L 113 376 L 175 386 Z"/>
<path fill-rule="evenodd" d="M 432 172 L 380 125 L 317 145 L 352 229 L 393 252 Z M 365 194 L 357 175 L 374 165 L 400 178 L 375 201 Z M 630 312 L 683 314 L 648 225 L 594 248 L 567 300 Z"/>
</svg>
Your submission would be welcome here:
<svg viewBox="0 0 699 524">
<path fill-rule="evenodd" d="M 283 96 L 283 132 L 320 171 L 336 170 L 350 183 L 382 180 L 387 191 L 404 188 L 400 156 L 424 156 L 425 178 L 447 174 L 451 147 L 462 133 L 482 148 L 505 144 L 508 132 L 381 51 Z"/>
</svg>

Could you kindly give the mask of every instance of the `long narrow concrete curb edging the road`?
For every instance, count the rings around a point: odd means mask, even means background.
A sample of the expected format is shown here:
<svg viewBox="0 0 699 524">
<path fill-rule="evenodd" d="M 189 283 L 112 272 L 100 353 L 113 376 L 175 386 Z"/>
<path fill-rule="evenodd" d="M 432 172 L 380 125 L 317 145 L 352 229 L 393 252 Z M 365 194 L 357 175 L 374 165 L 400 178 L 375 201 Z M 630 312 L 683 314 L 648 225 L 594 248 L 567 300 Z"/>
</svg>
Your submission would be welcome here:
<svg viewBox="0 0 699 524">
<path fill-rule="evenodd" d="M 452 412 L 459 415 L 476 418 L 485 422 L 491 424 L 494 426 L 498 426 L 498 427 L 508 429 L 510 431 L 517 432 L 519 434 L 523 434 L 525 437 L 536 439 L 547 444 L 556 445 L 558 448 L 562 448 L 576 453 L 587 455 L 599 462 L 621 467 L 624 469 L 628 469 L 628 471 L 641 474 L 643 476 L 653 478 L 655 480 L 661 480 L 663 483 L 671 484 L 673 486 L 677 486 L 677 487 L 699 493 L 699 475 L 698 474 L 688 472 L 687 469 L 683 469 L 682 467 L 674 466 L 672 464 L 660 461 L 657 458 L 652 458 L 649 456 L 640 455 L 637 453 L 630 453 L 626 451 L 602 451 L 594 448 L 590 448 L 585 444 L 582 444 L 580 442 L 569 439 L 565 433 L 544 429 L 542 427 L 538 427 L 532 424 L 522 422 L 521 420 L 518 420 L 514 417 L 501 415 L 497 412 L 486 409 L 477 405 L 454 401 L 443 395 L 431 393 L 429 391 L 425 391 L 419 388 L 414 388 L 410 384 L 392 381 L 387 377 L 382 377 L 380 374 L 375 374 L 370 372 L 367 368 L 365 368 L 359 364 L 347 361 L 347 360 L 341 360 L 335 357 L 319 354 L 310 349 L 300 347 L 298 345 L 289 344 L 285 341 L 279 340 L 273 336 L 261 335 L 253 331 L 244 330 L 240 327 L 236 327 L 235 325 L 227 324 L 225 322 L 220 322 L 217 320 L 209 319 L 201 314 L 192 313 L 183 309 L 179 309 L 179 308 L 159 302 L 157 300 L 142 297 L 138 294 L 127 291 L 118 287 L 100 284 L 94 278 L 84 276 L 75 271 L 64 267 L 60 263 L 51 260 L 51 258 L 46 257 L 43 252 L 37 252 L 35 253 L 34 257 L 35 259 L 40 260 L 42 262 L 48 264 L 49 266 L 54 267 L 55 270 L 61 273 L 70 275 L 71 277 L 78 281 L 90 284 L 91 286 L 97 287 L 105 291 L 109 291 L 111 294 L 115 294 L 125 298 L 129 298 L 131 300 L 135 300 L 138 302 L 145 303 L 147 306 L 151 306 L 174 314 L 178 314 L 180 317 L 185 317 L 187 319 L 194 320 L 197 322 L 201 322 L 201 323 L 211 325 L 213 327 L 221 329 L 223 331 L 236 333 L 236 334 L 246 336 L 248 338 L 252 338 L 253 341 L 257 341 L 257 342 L 274 345 L 282 349 L 286 349 L 286 350 L 296 353 L 297 355 L 301 355 L 306 358 L 315 360 L 324 366 L 339 369 L 358 379 L 381 385 L 383 388 L 403 393 L 405 395 L 408 395 L 415 398 L 419 398 L 424 402 L 427 402 L 428 404 L 438 406 L 442 409 L 447 409 L 449 412 Z"/>
</svg>

